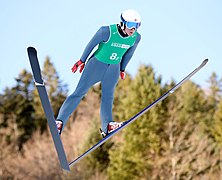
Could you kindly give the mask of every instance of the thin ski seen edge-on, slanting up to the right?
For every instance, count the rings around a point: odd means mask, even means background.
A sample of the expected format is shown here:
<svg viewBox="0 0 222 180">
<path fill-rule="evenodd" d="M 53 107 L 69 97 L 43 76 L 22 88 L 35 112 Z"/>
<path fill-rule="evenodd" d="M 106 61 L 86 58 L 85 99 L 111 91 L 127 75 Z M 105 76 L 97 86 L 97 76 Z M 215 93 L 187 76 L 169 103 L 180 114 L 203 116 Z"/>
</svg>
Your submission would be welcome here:
<svg viewBox="0 0 222 180">
<path fill-rule="evenodd" d="M 147 112 L 150 108 L 152 108 L 154 105 L 156 105 L 158 102 L 164 100 L 168 95 L 172 94 L 176 89 L 178 89 L 182 84 L 184 84 L 187 80 L 189 80 L 192 76 L 194 76 L 199 70 L 201 70 L 208 62 L 208 59 L 205 59 L 196 69 L 194 69 L 189 75 L 187 75 L 184 79 L 182 79 L 178 84 L 176 84 L 172 89 L 167 91 L 165 94 L 163 94 L 160 98 L 152 102 L 150 105 L 145 107 L 143 110 L 141 110 L 139 113 L 137 113 L 135 116 L 130 118 L 129 120 L 125 121 L 123 125 L 113 131 L 112 133 L 108 134 L 105 138 L 103 138 L 101 141 L 99 141 L 97 144 L 92 146 L 90 149 L 88 149 L 86 152 L 84 152 L 82 155 L 77 157 L 75 160 L 69 163 L 69 166 L 76 164 L 81 159 L 83 159 L 85 156 L 87 156 L 89 153 L 97 149 L 99 146 L 101 146 L 103 143 L 105 143 L 108 139 L 110 139 L 112 136 L 114 136 L 116 133 L 121 131 L 123 128 L 134 122 L 136 119 L 138 119 L 141 115 L 143 115 L 145 112 Z"/>
</svg>

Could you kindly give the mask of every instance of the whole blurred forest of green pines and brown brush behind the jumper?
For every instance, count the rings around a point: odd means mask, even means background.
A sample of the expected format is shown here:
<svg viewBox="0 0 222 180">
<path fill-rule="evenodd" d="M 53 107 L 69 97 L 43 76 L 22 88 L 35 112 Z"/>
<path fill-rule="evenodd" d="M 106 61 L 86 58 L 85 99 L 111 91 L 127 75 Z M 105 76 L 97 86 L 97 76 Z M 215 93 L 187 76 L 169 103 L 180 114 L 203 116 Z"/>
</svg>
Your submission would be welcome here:
<svg viewBox="0 0 222 180">
<path fill-rule="evenodd" d="M 42 67 L 56 117 L 70 92 L 49 57 Z M 0 94 L 0 179 L 222 179 L 222 78 L 215 72 L 206 79 L 208 87 L 186 82 L 71 173 L 60 168 L 30 69 L 15 81 Z M 163 84 L 152 65 L 141 65 L 135 77 L 118 82 L 114 120 L 128 120 L 176 83 Z M 102 138 L 100 90 L 100 84 L 89 90 L 61 135 L 69 161 Z"/>
</svg>

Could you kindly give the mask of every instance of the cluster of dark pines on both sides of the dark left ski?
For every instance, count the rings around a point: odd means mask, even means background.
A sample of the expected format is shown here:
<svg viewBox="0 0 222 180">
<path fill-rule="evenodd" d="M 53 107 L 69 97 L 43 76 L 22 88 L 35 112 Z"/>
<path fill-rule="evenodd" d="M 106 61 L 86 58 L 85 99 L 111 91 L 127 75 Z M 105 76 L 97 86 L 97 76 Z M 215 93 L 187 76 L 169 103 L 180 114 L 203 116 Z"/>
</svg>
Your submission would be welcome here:
<svg viewBox="0 0 222 180">
<path fill-rule="evenodd" d="M 59 80 L 58 73 L 48 57 L 44 62 L 42 76 L 56 115 L 67 96 L 67 86 Z M 21 151 L 33 132 L 40 130 L 43 133 L 47 130 L 47 122 L 32 74 L 22 70 L 15 81 L 15 87 L 6 88 L 0 95 L 0 135 L 2 141 L 14 144 L 15 148 Z"/>
</svg>

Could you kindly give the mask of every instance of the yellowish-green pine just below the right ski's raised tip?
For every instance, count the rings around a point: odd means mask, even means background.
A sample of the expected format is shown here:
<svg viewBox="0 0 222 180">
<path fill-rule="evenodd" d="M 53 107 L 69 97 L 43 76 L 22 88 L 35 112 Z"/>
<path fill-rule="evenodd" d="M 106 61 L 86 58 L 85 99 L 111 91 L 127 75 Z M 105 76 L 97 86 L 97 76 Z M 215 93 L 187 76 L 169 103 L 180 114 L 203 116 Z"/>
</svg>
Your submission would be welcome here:
<svg viewBox="0 0 222 180">
<path fill-rule="evenodd" d="M 168 173 L 171 177 L 168 178 L 201 178 L 209 167 L 207 153 L 213 147 L 208 145 L 210 141 L 201 126 L 207 115 L 205 94 L 200 87 L 189 81 L 176 93 L 176 99 L 171 100 L 166 128 L 170 150 L 166 154 L 170 155 L 170 164 L 166 163 L 165 166 L 172 167 Z"/>
</svg>

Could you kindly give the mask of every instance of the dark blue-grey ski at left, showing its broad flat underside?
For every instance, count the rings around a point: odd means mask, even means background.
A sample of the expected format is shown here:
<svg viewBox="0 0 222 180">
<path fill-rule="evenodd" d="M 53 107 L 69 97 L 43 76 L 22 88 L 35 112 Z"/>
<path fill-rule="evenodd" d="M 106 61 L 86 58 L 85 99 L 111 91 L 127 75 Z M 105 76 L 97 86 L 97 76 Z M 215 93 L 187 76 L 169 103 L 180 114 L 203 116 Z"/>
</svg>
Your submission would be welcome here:
<svg viewBox="0 0 222 180">
<path fill-rule="evenodd" d="M 33 47 L 28 47 L 27 51 L 28 51 L 29 61 L 31 64 L 31 69 L 34 76 L 35 85 L 37 87 L 38 94 L 41 99 L 42 107 L 44 109 L 44 113 L 45 113 L 45 116 L 49 125 L 49 129 L 50 129 L 52 139 L 53 139 L 53 142 L 54 142 L 57 154 L 58 154 L 60 165 L 64 170 L 70 171 L 66 154 L 63 148 L 63 144 L 60 139 L 57 126 L 55 123 L 54 113 L 52 111 L 52 107 L 49 102 L 49 98 L 48 98 L 48 94 L 44 85 L 44 81 L 42 80 L 41 69 L 40 69 L 38 57 L 37 57 L 37 51 Z"/>
</svg>

